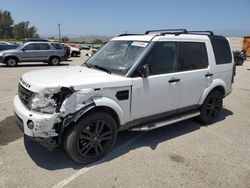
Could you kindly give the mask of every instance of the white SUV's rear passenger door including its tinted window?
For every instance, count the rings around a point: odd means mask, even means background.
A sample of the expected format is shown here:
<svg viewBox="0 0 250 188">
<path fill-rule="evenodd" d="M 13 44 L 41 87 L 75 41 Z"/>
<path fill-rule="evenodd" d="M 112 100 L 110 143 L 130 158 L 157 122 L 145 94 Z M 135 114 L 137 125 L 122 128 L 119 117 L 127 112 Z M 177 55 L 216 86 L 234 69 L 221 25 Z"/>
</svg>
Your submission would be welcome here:
<svg viewBox="0 0 250 188">
<path fill-rule="evenodd" d="M 179 42 L 176 72 L 179 72 L 181 96 L 179 109 L 198 104 L 204 90 L 213 79 L 209 71 L 205 42 Z"/>
</svg>

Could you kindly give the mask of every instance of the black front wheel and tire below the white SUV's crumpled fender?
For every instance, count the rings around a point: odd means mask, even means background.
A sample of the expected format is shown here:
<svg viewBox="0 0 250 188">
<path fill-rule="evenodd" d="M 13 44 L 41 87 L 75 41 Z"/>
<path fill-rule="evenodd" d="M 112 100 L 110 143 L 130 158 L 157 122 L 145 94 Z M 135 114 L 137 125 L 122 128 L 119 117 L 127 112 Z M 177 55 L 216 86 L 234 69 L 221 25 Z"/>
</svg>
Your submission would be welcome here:
<svg viewBox="0 0 250 188">
<path fill-rule="evenodd" d="M 64 137 L 66 153 L 77 163 L 87 164 L 103 158 L 115 145 L 117 124 L 103 112 L 80 119 Z"/>
</svg>

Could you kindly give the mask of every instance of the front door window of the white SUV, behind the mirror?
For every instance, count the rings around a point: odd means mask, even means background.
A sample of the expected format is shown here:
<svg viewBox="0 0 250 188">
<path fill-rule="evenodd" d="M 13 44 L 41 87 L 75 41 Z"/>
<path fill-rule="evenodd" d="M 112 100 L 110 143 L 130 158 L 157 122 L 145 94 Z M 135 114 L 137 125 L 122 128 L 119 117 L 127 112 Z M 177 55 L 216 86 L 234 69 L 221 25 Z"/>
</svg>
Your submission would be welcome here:
<svg viewBox="0 0 250 188">
<path fill-rule="evenodd" d="M 166 74 L 174 71 L 177 45 L 175 42 L 155 42 L 144 63 L 149 65 L 150 74 Z"/>
</svg>

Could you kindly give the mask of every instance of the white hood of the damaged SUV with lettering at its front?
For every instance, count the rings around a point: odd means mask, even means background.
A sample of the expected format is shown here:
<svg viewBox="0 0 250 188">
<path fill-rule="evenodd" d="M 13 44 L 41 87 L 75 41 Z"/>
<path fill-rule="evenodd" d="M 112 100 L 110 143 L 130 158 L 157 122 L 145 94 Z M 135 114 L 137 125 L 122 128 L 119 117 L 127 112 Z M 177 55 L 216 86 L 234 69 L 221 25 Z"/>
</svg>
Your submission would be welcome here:
<svg viewBox="0 0 250 188">
<path fill-rule="evenodd" d="M 50 68 L 25 73 L 20 82 L 33 91 L 73 87 L 75 90 L 84 88 L 106 88 L 132 85 L 132 79 L 124 76 L 108 74 L 104 71 L 84 66 L 67 66 Z"/>
</svg>

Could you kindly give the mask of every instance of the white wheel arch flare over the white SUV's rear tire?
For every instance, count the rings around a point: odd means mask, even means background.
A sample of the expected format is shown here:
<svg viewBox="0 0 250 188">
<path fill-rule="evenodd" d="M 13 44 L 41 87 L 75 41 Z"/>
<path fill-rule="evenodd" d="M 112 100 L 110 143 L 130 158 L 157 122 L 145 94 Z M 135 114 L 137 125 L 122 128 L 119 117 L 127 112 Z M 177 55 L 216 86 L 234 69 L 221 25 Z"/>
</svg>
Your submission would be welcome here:
<svg viewBox="0 0 250 188">
<path fill-rule="evenodd" d="M 200 98 L 199 104 L 201 105 L 204 102 L 204 100 L 206 99 L 206 97 L 209 95 L 209 93 L 211 93 L 214 90 L 219 90 L 222 93 L 222 96 L 225 97 L 225 95 L 226 95 L 225 82 L 222 80 L 214 80 L 213 83 L 204 90 L 204 92 Z"/>
</svg>

